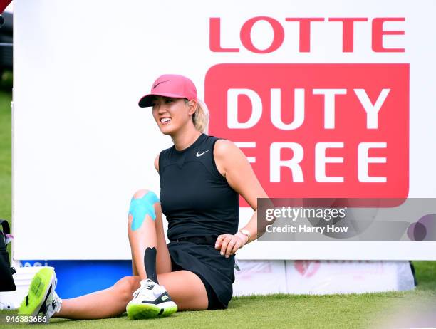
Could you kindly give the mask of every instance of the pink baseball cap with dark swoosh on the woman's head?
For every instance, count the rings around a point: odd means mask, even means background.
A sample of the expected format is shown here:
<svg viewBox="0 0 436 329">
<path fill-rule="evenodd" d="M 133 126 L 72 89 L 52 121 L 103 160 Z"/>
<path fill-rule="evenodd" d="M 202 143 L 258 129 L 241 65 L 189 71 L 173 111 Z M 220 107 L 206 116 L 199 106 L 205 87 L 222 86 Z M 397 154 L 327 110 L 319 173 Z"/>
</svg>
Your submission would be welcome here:
<svg viewBox="0 0 436 329">
<path fill-rule="evenodd" d="M 195 88 L 194 83 L 183 75 L 160 75 L 160 77 L 153 83 L 150 93 L 140 99 L 138 103 L 140 108 L 152 106 L 152 98 L 155 95 L 197 100 L 197 89 Z"/>
</svg>

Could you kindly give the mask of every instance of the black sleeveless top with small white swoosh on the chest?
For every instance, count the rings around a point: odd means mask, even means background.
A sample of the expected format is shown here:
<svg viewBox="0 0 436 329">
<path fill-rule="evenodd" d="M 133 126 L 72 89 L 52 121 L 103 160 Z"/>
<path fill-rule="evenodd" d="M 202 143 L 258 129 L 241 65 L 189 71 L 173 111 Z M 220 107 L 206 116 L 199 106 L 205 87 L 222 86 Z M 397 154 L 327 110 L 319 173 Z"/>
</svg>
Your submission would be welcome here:
<svg viewBox="0 0 436 329">
<path fill-rule="evenodd" d="M 239 194 L 217 169 L 217 140 L 202 134 L 185 150 L 172 146 L 160 152 L 160 203 L 170 241 L 237 232 Z"/>
</svg>

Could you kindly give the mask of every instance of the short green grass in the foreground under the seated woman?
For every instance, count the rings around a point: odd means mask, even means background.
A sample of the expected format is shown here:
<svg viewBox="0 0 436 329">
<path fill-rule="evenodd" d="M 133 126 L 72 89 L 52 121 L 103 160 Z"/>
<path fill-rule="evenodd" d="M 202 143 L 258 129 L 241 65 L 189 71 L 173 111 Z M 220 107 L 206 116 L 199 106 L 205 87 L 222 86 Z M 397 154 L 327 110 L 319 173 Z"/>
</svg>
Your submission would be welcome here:
<svg viewBox="0 0 436 329">
<path fill-rule="evenodd" d="M 427 283 L 422 281 L 422 286 Z M 368 328 L 383 322 L 383 316 L 396 315 L 398 308 L 404 312 L 406 305 L 428 305 L 435 298 L 436 292 L 426 288 L 360 295 L 251 296 L 233 298 L 227 310 L 179 312 L 153 320 L 128 320 L 125 315 L 104 320 L 52 319 L 50 328 Z M 5 314 L 14 312 L 0 312 Z"/>
</svg>

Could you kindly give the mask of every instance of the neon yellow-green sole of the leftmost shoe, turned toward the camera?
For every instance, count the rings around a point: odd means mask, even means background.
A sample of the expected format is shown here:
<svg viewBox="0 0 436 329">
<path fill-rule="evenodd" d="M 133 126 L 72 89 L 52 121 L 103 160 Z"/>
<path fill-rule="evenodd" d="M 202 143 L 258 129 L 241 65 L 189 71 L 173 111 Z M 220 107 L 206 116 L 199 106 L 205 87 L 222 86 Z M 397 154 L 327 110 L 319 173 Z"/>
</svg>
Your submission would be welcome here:
<svg viewBox="0 0 436 329">
<path fill-rule="evenodd" d="M 56 274 L 51 268 L 42 268 L 33 276 L 30 288 L 19 307 L 19 315 L 36 316 L 48 295 L 56 287 Z"/>
</svg>

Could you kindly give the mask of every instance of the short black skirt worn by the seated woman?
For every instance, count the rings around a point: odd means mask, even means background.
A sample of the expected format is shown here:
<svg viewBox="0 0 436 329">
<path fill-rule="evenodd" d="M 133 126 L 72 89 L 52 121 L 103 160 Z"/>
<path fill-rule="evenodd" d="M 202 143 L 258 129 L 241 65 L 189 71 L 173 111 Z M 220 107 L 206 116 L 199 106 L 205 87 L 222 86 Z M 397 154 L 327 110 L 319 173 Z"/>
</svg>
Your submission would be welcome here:
<svg viewBox="0 0 436 329">
<path fill-rule="evenodd" d="M 171 241 L 168 251 L 172 271 L 191 271 L 203 281 L 209 310 L 227 308 L 233 293 L 234 255 L 225 258 L 214 246 L 190 241 Z"/>
</svg>

